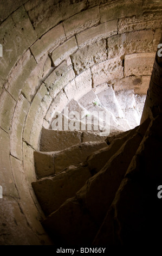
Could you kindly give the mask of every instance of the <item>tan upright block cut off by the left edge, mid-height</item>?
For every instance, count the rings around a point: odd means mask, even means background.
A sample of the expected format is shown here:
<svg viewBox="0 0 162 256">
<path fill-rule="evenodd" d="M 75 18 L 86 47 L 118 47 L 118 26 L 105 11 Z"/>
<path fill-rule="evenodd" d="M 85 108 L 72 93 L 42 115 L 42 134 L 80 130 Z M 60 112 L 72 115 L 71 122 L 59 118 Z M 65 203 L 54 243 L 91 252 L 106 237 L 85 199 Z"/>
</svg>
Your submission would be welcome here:
<svg viewBox="0 0 162 256">
<path fill-rule="evenodd" d="M 11 121 L 14 114 L 16 101 L 4 89 L 0 100 L 3 102 L 0 106 L 0 127 L 2 127 L 2 129 L 4 129 L 6 132 L 9 132 L 11 129 Z"/>
</svg>

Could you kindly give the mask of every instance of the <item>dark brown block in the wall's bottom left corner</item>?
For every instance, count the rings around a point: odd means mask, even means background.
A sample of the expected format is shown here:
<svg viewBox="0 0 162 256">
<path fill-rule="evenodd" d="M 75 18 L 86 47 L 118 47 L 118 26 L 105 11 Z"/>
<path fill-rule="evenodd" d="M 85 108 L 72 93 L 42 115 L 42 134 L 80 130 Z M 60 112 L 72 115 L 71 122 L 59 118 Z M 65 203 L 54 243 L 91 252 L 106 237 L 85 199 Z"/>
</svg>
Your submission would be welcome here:
<svg viewBox="0 0 162 256">
<path fill-rule="evenodd" d="M 0 201 L 0 212 L 0 225 L 3 227 L 1 245 L 41 245 L 41 240 L 30 228 L 31 225 L 29 227 L 20 201 L 12 197 L 4 197 Z M 41 237 L 42 241 L 50 244 L 46 237 Z"/>
</svg>

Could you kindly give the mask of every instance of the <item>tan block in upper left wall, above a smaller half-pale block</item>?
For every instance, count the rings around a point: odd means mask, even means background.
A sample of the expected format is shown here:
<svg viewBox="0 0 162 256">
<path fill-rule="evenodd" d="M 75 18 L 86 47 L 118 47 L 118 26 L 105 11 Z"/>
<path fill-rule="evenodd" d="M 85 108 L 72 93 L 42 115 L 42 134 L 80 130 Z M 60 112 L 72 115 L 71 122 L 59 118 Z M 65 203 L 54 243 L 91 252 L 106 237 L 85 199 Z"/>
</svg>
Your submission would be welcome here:
<svg viewBox="0 0 162 256">
<path fill-rule="evenodd" d="M 46 52 L 54 49 L 66 40 L 62 23 L 42 35 L 34 45 L 30 47 L 35 59 L 38 61 Z"/>
</svg>

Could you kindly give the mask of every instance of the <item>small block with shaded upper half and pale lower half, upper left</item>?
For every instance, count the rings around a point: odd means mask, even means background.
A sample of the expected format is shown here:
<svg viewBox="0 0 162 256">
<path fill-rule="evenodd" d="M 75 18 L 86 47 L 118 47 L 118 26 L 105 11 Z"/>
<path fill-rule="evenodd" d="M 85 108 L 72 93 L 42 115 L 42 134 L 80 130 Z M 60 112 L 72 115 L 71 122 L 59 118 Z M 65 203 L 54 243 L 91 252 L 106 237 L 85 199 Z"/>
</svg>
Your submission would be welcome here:
<svg viewBox="0 0 162 256">
<path fill-rule="evenodd" d="M 77 50 L 77 42 L 75 36 L 64 42 L 61 46 L 53 51 L 51 58 L 55 66 L 58 66 L 65 58 L 73 54 Z"/>
</svg>

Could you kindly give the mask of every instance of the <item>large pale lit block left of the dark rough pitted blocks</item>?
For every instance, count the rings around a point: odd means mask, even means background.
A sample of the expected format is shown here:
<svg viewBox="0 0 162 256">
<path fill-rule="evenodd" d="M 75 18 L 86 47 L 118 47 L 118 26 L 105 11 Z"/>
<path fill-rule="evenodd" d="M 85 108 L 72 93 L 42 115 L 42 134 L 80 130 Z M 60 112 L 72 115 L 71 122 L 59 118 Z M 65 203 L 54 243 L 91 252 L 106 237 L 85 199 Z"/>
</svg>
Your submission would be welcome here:
<svg viewBox="0 0 162 256">
<path fill-rule="evenodd" d="M 61 63 L 44 81 L 49 90 L 49 94 L 53 99 L 70 81 L 75 77 L 74 70 L 71 65 L 67 65 L 64 61 Z"/>
</svg>

